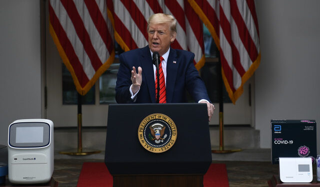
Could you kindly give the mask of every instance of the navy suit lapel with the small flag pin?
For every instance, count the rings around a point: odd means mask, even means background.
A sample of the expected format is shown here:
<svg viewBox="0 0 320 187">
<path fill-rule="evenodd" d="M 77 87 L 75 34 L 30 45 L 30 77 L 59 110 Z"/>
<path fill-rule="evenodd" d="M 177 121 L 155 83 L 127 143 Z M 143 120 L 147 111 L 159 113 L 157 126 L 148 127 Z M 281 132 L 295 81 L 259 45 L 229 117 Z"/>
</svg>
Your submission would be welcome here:
<svg viewBox="0 0 320 187">
<path fill-rule="evenodd" d="M 173 63 L 175 61 L 175 63 Z M 176 73 L 178 69 L 178 61 L 176 59 L 176 52 L 174 49 L 170 48 L 168 60 L 166 62 L 166 102 L 172 102 L 172 96 L 174 91 L 174 83 L 176 79 Z"/>
</svg>

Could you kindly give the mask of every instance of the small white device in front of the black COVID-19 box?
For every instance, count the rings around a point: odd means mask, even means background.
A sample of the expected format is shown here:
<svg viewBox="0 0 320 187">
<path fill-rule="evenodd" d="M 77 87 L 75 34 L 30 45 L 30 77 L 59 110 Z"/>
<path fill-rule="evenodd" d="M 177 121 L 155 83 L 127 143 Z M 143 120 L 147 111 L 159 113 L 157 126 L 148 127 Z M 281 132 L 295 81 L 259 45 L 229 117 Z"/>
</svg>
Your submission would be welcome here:
<svg viewBox="0 0 320 187">
<path fill-rule="evenodd" d="M 279 158 L 279 174 L 282 183 L 311 183 L 312 159 Z"/>
</svg>

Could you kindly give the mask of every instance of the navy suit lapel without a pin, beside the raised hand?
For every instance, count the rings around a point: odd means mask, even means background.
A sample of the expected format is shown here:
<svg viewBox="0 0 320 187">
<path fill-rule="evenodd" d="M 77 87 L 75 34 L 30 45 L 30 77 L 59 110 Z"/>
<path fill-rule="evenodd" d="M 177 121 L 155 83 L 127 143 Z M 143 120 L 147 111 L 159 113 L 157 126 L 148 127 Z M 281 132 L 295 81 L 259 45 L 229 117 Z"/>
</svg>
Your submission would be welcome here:
<svg viewBox="0 0 320 187">
<path fill-rule="evenodd" d="M 151 103 L 155 103 L 155 87 L 154 87 L 154 73 L 150 49 L 148 46 L 141 48 L 141 67 L 142 67 L 142 80 L 146 81 L 146 86 L 149 91 Z M 143 79 L 143 76 L 145 79 Z"/>
</svg>

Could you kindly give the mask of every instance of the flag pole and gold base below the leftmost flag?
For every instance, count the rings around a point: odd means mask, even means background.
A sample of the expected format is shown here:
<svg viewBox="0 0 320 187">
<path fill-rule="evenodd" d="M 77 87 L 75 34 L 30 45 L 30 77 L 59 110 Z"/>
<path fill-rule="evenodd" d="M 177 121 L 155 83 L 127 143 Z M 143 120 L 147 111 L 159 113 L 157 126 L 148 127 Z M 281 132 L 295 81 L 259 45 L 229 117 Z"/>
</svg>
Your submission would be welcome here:
<svg viewBox="0 0 320 187">
<path fill-rule="evenodd" d="M 78 148 L 77 150 L 61 151 L 59 153 L 64 155 L 92 155 L 100 153 L 101 151 L 82 150 L 82 96 L 79 93 L 77 102 L 77 113 Z"/>
</svg>

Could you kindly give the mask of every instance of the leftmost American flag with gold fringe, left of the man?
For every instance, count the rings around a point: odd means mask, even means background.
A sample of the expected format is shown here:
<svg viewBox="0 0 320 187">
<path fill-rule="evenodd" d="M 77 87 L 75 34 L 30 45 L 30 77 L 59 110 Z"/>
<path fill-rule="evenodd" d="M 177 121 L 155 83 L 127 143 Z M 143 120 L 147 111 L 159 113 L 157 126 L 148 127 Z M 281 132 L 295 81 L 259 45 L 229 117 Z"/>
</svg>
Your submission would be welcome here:
<svg viewBox="0 0 320 187">
<path fill-rule="evenodd" d="M 49 0 L 49 31 L 81 95 L 114 59 L 105 0 Z"/>
</svg>

